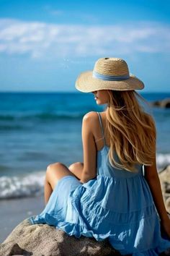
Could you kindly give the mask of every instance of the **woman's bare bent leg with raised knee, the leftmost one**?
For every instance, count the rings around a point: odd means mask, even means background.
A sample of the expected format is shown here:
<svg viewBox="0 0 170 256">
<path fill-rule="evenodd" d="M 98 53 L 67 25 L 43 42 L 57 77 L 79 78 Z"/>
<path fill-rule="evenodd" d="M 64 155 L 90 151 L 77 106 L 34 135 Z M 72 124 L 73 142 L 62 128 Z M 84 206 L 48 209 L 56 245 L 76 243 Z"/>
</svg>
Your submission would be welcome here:
<svg viewBox="0 0 170 256">
<path fill-rule="evenodd" d="M 45 175 L 45 187 L 44 187 L 44 199 L 45 205 L 48 203 L 51 193 L 58 180 L 63 176 L 74 176 L 71 171 L 63 163 L 51 163 L 46 171 Z"/>
</svg>

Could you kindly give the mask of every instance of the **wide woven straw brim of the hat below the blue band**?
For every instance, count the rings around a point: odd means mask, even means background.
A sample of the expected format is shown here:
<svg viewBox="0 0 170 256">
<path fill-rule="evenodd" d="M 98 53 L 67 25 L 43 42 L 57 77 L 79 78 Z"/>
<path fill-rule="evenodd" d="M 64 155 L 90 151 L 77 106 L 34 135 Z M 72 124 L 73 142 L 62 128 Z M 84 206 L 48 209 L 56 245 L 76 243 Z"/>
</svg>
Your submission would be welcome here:
<svg viewBox="0 0 170 256">
<path fill-rule="evenodd" d="M 76 89 L 83 93 L 91 93 L 94 90 L 142 90 L 144 84 L 138 77 L 130 74 L 127 80 L 107 81 L 94 78 L 92 71 L 83 72 L 76 80 Z"/>
</svg>

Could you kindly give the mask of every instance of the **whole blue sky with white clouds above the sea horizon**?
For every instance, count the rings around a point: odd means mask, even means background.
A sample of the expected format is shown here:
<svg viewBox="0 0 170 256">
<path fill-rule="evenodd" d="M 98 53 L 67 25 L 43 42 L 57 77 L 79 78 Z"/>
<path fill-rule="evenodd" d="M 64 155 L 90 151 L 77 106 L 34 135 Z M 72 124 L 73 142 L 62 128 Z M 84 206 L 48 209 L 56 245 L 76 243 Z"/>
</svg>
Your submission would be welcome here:
<svg viewBox="0 0 170 256">
<path fill-rule="evenodd" d="M 0 91 L 76 91 L 120 57 L 146 92 L 170 92 L 170 1 L 0 0 Z"/>
</svg>

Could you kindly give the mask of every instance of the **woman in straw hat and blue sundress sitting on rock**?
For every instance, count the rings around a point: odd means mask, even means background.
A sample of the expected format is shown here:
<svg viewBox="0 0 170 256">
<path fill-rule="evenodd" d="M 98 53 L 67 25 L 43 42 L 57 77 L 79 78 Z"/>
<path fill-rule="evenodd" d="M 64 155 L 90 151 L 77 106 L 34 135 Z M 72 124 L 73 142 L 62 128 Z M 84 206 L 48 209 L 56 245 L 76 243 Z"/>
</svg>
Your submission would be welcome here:
<svg viewBox="0 0 170 256">
<path fill-rule="evenodd" d="M 156 170 L 155 124 L 135 92 L 143 82 L 124 60 L 102 58 L 80 74 L 76 88 L 94 93 L 107 109 L 83 118 L 84 163 L 48 166 L 46 206 L 30 222 L 70 236 L 108 238 L 122 255 L 159 255 L 170 247 L 170 221 Z"/>
</svg>

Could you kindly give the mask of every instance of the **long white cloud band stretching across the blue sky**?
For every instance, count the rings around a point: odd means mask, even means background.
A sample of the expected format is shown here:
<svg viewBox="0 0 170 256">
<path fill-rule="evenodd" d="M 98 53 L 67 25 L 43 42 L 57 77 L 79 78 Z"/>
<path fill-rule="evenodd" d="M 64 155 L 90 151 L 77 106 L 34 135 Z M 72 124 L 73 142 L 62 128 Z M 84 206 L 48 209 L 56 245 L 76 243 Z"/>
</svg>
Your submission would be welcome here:
<svg viewBox="0 0 170 256">
<path fill-rule="evenodd" d="M 158 22 L 57 25 L 0 19 L 0 54 L 30 54 L 41 59 L 135 52 L 170 52 L 170 26 Z"/>
</svg>

